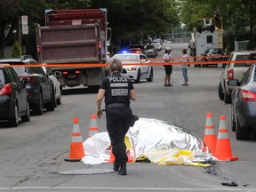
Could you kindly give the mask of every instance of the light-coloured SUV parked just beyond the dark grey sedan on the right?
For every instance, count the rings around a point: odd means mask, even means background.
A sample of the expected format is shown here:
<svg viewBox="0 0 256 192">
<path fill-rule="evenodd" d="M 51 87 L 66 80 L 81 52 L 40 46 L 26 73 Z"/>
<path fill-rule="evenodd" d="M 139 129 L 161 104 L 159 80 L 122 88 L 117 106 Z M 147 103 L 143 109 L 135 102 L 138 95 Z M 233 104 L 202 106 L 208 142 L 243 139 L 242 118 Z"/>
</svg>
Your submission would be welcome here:
<svg viewBox="0 0 256 192">
<path fill-rule="evenodd" d="M 252 60 L 252 56 L 256 52 L 230 52 L 228 55 L 229 63 L 226 65 L 220 76 L 220 84 L 218 88 L 220 100 L 224 100 L 225 103 L 231 103 L 231 92 L 236 88 L 235 85 L 228 85 L 228 80 L 237 79 L 241 81 L 245 71 L 252 65 L 252 62 L 246 62 L 246 60 Z M 234 63 L 232 61 L 242 61 Z"/>
</svg>

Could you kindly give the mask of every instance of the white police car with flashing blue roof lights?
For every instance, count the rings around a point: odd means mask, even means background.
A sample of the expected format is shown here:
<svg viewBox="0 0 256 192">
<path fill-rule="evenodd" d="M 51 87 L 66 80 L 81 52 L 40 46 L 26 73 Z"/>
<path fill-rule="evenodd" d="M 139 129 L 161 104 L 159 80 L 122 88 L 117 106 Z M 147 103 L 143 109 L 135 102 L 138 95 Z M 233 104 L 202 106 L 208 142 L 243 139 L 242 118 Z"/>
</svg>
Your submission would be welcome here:
<svg viewBox="0 0 256 192">
<path fill-rule="evenodd" d="M 113 58 L 122 60 L 124 64 L 122 76 L 127 76 L 135 83 L 140 83 L 141 79 L 153 81 L 153 67 L 149 66 L 150 60 L 142 53 L 121 53 L 115 54 Z M 134 64 L 134 65 L 125 65 Z"/>
</svg>

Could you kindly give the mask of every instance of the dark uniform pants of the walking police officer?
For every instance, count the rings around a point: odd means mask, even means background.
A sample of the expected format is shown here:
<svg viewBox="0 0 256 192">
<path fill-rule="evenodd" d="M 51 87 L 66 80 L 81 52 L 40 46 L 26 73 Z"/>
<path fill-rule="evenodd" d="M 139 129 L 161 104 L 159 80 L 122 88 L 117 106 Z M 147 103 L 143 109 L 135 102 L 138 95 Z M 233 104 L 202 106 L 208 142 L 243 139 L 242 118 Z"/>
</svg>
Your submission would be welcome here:
<svg viewBox="0 0 256 192">
<path fill-rule="evenodd" d="M 107 129 L 116 160 L 122 164 L 127 162 L 124 137 L 132 121 L 132 109 L 128 107 L 107 108 Z"/>
</svg>

